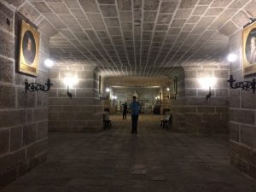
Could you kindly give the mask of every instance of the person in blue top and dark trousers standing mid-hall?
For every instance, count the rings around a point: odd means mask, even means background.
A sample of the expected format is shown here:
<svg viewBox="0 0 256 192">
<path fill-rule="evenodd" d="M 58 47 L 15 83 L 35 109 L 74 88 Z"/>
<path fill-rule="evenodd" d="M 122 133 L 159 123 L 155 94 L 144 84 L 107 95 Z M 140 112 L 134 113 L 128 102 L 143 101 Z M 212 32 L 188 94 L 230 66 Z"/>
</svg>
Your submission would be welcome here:
<svg viewBox="0 0 256 192">
<path fill-rule="evenodd" d="M 136 101 L 136 96 L 132 97 L 133 101 L 130 104 L 131 108 L 131 133 L 137 133 L 137 119 L 141 108 L 139 102 Z"/>
</svg>

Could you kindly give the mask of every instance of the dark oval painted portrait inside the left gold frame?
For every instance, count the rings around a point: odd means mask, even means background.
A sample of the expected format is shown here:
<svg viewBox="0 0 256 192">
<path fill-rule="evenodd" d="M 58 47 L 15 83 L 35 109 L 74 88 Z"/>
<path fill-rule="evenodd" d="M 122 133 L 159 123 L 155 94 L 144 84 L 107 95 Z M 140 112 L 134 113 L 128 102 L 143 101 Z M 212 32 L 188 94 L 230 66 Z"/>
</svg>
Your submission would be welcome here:
<svg viewBox="0 0 256 192">
<path fill-rule="evenodd" d="M 36 43 L 33 34 L 26 31 L 22 42 L 22 50 L 27 65 L 31 65 L 36 56 Z"/>
</svg>

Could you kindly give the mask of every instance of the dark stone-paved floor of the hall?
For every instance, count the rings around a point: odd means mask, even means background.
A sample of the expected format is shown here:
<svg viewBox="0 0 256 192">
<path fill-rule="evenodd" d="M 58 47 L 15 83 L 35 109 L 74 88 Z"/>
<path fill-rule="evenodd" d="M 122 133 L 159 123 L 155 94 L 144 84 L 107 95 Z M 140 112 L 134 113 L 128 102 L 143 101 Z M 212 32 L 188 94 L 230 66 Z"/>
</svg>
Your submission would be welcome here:
<svg viewBox="0 0 256 192">
<path fill-rule="evenodd" d="M 49 158 L 1 192 L 253 192 L 230 166 L 228 137 L 160 129 L 160 116 L 112 116 L 99 133 L 50 133 Z"/>
</svg>

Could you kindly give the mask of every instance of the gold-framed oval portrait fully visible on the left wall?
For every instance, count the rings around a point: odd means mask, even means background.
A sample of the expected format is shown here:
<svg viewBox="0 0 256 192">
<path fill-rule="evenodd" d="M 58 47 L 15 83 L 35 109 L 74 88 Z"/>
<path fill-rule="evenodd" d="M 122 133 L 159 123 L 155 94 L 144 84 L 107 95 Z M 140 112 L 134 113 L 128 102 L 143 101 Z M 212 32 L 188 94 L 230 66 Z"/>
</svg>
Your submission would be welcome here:
<svg viewBox="0 0 256 192">
<path fill-rule="evenodd" d="M 25 20 L 21 20 L 19 72 L 32 76 L 38 75 L 39 37 L 40 34 L 36 29 L 26 23 Z"/>
</svg>

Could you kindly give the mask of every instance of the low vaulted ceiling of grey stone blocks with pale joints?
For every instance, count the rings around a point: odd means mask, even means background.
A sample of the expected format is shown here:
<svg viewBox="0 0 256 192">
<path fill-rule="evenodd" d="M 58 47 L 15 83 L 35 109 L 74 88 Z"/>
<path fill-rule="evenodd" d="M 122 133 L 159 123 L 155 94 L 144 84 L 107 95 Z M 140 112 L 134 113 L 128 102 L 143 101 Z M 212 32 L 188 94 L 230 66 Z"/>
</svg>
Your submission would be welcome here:
<svg viewBox="0 0 256 192">
<path fill-rule="evenodd" d="M 222 61 L 229 36 L 256 16 L 256 0 L 21 2 L 21 13 L 33 9 L 54 26 L 55 61 L 94 63 L 107 75 L 164 76 L 189 62 Z"/>
</svg>

